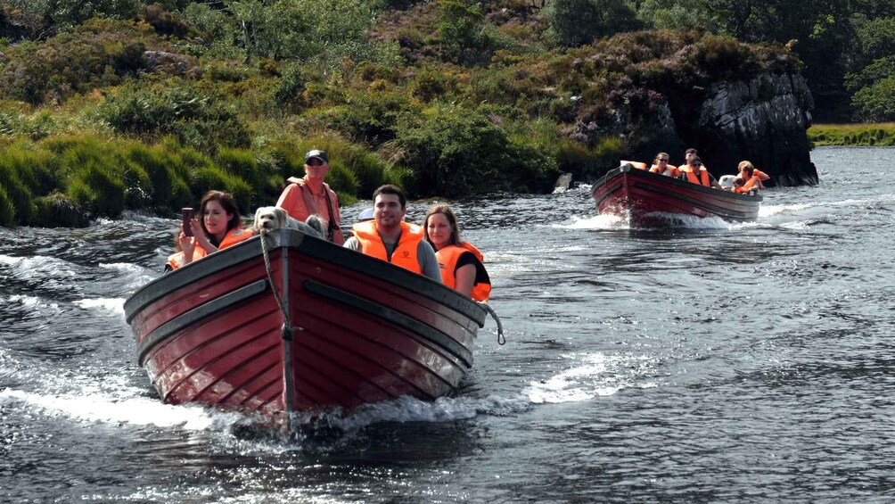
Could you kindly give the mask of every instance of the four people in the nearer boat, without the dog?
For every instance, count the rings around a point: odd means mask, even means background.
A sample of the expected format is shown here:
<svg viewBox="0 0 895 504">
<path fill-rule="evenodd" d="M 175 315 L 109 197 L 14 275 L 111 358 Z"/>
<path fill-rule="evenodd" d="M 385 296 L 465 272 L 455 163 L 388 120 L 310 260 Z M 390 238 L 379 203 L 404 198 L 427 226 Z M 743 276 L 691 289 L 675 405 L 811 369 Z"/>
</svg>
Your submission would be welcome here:
<svg viewBox="0 0 895 504">
<path fill-rule="evenodd" d="M 319 218 L 330 242 L 410 269 L 476 301 L 488 301 L 491 286 L 482 252 L 460 239 L 460 226 L 449 206 L 430 208 L 422 227 L 409 224 L 404 191 L 383 185 L 373 192 L 373 208 L 358 216 L 354 235 L 345 240 L 336 192 L 323 182 L 328 171 L 326 151 L 308 151 L 304 177 L 288 179 L 277 207 L 300 222 Z M 175 253 L 168 258 L 166 272 L 255 235 L 254 230 L 243 228 L 240 215 L 230 194 L 207 192 L 200 202 L 200 218 L 184 219 L 175 235 Z"/>
</svg>

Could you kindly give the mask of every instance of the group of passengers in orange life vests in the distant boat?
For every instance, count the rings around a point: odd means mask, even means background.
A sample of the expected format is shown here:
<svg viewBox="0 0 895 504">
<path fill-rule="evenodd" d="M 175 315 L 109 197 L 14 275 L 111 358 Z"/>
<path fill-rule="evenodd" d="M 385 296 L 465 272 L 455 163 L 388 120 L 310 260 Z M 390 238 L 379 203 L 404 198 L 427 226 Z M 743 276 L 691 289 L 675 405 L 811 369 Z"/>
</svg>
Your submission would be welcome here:
<svg viewBox="0 0 895 504">
<path fill-rule="evenodd" d="M 686 149 L 684 153 L 686 163 L 679 167 L 669 165 L 669 155 L 666 152 L 656 154 L 656 158 L 652 161 L 652 167 L 647 167 L 646 163 L 638 163 L 635 161 L 622 161 L 621 164 L 629 164 L 632 167 L 641 170 L 649 170 L 650 173 L 668 175 L 680 180 L 686 180 L 693 184 L 704 185 L 705 187 L 714 187 L 724 191 L 738 192 L 740 194 L 748 193 L 758 189 L 764 189 L 763 182 L 771 178 L 763 171 L 756 169 L 749 161 L 740 161 L 737 169 L 737 175 L 725 175 L 723 179 L 729 178 L 730 185 L 719 184 L 715 177 L 709 173 L 708 169 L 703 166 L 702 159 L 697 156 L 696 149 Z"/>
</svg>

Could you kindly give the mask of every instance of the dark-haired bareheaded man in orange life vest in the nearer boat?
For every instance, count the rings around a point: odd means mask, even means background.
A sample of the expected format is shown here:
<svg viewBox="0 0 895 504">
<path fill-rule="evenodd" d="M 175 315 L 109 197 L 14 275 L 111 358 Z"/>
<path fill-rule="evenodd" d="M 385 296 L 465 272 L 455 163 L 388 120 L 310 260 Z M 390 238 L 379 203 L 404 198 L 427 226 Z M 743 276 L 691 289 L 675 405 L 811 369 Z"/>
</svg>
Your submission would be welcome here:
<svg viewBox="0 0 895 504">
<path fill-rule="evenodd" d="M 354 225 L 354 236 L 345 247 L 388 261 L 441 283 L 435 250 L 423 240 L 420 226 L 404 221 L 407 197 L 396 185 L 383 185 L 373 192 L 373 219 Z"/>
</svg>

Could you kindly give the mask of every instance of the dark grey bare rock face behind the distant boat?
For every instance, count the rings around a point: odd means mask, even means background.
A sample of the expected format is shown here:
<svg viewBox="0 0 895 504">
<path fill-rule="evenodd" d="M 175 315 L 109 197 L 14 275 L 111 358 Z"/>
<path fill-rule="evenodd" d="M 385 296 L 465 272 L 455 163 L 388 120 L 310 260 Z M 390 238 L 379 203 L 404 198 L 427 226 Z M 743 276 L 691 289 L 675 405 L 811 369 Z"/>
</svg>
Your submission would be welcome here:
<svg viewBox="0 0 895 504">
<path fill-rule="evenodd" d="M 719 81 L 695 96 L 665 94 L 665 104 L 639 130 L 638 159 L 664 150 L 680 163 L 684 149 L 694 147 L 716 177 L 736 173 L 737 163 L 748 159 L 771 175 L 769 185 L 818 183 L 805 133 L 814 101 L 801 75 Z"/>
</svg>

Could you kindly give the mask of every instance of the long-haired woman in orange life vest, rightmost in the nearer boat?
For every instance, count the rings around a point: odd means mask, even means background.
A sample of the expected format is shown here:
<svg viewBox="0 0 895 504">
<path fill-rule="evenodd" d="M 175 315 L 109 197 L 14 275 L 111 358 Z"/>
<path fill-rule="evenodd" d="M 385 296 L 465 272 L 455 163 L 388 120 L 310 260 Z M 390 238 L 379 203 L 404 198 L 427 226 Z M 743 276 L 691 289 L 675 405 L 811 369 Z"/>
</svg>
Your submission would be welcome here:
<svg viewBox="0 0 895 504">
<path fill-rule="evenodd" d="M 488 301 L 491 279 L 482 264 L 484 257 L 472 244 L 460 240 L 456 215 L 447 205 L 435 205 L 422 221 L 426 241 L 435 249 L 441 281 L 476 301 Z"/>
</svg>

